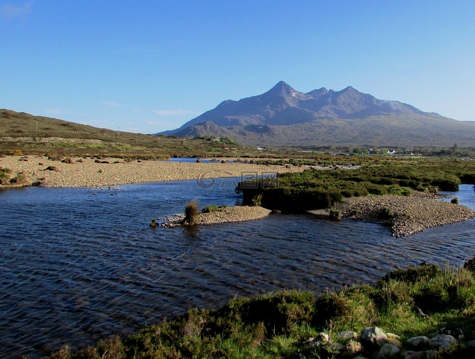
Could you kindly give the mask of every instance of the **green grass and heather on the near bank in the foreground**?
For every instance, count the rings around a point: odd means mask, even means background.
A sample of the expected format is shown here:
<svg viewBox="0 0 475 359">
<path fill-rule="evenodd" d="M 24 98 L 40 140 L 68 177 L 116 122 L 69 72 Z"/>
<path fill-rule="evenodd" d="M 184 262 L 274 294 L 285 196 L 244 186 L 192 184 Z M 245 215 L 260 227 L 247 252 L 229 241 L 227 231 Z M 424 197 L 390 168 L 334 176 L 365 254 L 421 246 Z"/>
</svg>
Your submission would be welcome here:
<svg viewBox="0 0 475 359">
<path fill-rule="evenodd" d="M 79 352 L 64 347 L 49 358 L 339 358 L 330 346 L 311 348 L 320 332 L 338 342 L 342 331 L 378 326 L 402 341 L 441 327 L 475 339 L 475 258 L 465 268 L 434 265 L 396 270 L 375 285 L 343 288 L 315 297 L 286 290 L 235 298 L 216 310 L 192 308 L 124 338 L 111 337 Z M 473 358 L 463 345 L 439 358 Z"/>
</svg>

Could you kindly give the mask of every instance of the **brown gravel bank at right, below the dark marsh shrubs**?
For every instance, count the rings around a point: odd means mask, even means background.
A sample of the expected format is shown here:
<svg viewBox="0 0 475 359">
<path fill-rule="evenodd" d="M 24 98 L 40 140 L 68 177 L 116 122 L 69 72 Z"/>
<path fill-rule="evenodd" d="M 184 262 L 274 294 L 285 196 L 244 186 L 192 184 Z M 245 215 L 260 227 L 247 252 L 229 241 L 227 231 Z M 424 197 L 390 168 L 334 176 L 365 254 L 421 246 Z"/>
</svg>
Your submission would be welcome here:
<svg viewBox="0 0 475 359">
<path fill-rule="evenodd" d="M 475 212 L 466 206 L 442 201 L 424 193 L 351 197 L 339 203 L 336 209 L 346 218 L 381 222 L 397 237 L 422 232 L 430 227 L 462 222 L 475 216 Z M 311 212 L 320 215 L 325 213 L 322 210 Z"/>
</svg>

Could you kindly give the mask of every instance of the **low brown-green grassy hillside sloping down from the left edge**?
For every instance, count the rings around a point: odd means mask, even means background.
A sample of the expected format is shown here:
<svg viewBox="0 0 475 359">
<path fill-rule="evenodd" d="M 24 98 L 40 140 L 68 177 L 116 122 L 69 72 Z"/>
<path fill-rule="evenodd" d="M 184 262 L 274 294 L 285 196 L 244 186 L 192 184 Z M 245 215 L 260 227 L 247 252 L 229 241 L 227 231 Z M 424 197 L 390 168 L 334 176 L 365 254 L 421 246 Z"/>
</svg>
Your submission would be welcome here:
<svg viewBox="0 0 475 359">
<path fill-rule="evenodd" d="M 119 132 L 59 119 L 0 109 L 0 154 L 64 154 L 168 158 L 232 156 L 219 142 Z M 239 146 L 242 151 L 242 146 Z M 245 148 L 250 155 L 255 148 Z M 242 156 L 242 154 L 239 154 Z"/>
</svg>

